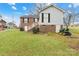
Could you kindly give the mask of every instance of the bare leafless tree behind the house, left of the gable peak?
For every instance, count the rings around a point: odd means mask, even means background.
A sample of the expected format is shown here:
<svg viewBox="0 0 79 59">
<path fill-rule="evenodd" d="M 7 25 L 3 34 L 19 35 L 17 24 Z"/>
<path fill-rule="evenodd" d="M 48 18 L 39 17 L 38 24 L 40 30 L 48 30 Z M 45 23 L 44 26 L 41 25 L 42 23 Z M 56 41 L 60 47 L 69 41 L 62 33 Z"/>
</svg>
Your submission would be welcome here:
<svg viewBox="0 0 79 59">
<path fill-rule="evenodd" d="M 34 9 L 30 9 L 30 13 L 31 14 L 35 14 L 35 15 L 39 15 L 39 12 L 44 9 L 45 7 L 47 7 L 48 5 L 56 5 L 55 3 L 35 3 Z"/>
</svg>

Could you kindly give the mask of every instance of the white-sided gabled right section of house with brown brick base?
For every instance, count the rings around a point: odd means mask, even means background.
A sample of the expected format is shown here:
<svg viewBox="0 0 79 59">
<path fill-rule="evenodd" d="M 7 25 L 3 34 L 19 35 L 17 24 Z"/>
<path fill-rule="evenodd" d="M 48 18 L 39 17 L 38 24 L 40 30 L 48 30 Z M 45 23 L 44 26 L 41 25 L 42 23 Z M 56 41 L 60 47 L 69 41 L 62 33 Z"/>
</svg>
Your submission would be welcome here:
<svg viewBox="0 0 79 59">
<path fill-rule="evenodd" d="M 59 32 L 63 27 L 64 10 L 50 5 L 39 13 L 39 29 L 41 32 Z"/>
</svg>

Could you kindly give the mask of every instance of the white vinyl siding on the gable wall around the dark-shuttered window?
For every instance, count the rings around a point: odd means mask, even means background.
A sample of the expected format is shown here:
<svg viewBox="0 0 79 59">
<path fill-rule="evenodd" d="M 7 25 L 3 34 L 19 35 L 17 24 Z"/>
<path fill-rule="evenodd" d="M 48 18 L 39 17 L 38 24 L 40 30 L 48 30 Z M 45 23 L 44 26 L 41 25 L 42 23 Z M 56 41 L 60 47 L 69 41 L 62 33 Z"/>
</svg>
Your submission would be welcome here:
<svg viewBox="0 0 79 59">
<path fill-rule="evenodd" d="M 42 23 L 41 13 L 50 13 L 50 23 L 48 23 L 48 19 L 44 19 Z M 63 12 L 56 9 L 55 7 L 50 7 L 40 13 L 39 24 L 40 25 L 63 25 Z"/>
</svg>

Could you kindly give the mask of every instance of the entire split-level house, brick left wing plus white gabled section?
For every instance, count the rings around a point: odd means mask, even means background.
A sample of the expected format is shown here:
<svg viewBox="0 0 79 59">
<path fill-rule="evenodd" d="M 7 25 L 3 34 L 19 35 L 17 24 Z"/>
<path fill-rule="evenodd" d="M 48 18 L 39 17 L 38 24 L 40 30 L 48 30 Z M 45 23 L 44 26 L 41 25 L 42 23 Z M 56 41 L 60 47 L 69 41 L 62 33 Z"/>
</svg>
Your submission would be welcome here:
<svg viewBox="0 0 79 59">
<path fill-rule="evenodd" d="M 63 28 L 64 22 L 64 10 L 54 6 L 49 5 L 42 9 L 39 13 L 39 16 L 25 16 L 21 17 L 21 27 L 25 29 L 25 31 L 28 31 L 29 29 L 32 29 L 36 25 L 38 25 L 40 32 L 59 32 L 61 28 Z M 39 20 L 35 22 L 35 20 Z M 29 21 L 28 21 L 29 20 Z M 35 26 L 33 24 L 37 23 Z M 26 25 L 26 26 L 25 26 Z M 31 25 L 28 29 L 28 25 Z M 28 30 L 27 30 L 28 29 Z"/>
</svg>

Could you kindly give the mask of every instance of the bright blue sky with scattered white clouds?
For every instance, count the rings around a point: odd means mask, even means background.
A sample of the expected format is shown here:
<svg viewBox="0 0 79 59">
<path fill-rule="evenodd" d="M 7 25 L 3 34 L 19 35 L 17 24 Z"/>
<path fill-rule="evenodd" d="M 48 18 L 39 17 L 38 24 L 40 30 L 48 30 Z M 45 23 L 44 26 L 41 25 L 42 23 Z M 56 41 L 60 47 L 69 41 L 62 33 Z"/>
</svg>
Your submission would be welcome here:
<svg viewBox="0 0 79 59">
<path fill-rule="evenodd" d="M 55 3 L 55 5 L 61 9 L 72 10 L 75 13 L 79 13 L 78 3 Z M 20 16 L 30 14 L 34 8 L 35 3 L 0 3 L 0 15 L 2 15 L 5 21 L 14 21 L 19 25 Z"/>
</svg>

